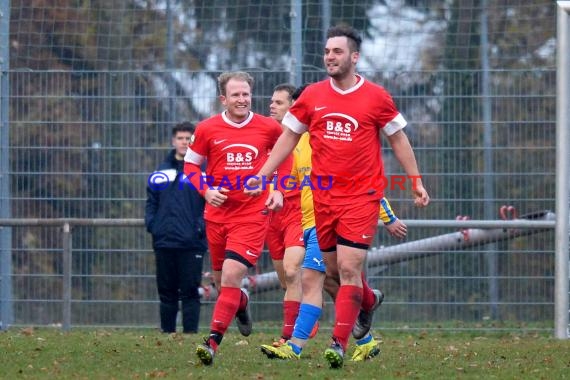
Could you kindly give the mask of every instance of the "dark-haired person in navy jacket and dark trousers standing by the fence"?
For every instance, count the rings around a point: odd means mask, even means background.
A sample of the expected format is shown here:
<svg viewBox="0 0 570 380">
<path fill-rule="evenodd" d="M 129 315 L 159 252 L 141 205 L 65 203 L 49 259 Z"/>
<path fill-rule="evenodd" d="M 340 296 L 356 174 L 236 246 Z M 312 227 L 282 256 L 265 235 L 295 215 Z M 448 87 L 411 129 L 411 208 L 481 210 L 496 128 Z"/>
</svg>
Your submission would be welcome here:
<svg viewBox="0 0 570 380">
<path fill-rule="evenodd" d="M 204 198 L 183 181 L 184 155 L 194 133 L 189 122 L 172 129 L 174 149 L 148 178 L 145 224 L 152 234 L 156 284 L 160 298 L 160 328 L 176 332 L 178 303 L 184 333 L 198 332 L 199 288 L 206 252 Z"/>
</svg>

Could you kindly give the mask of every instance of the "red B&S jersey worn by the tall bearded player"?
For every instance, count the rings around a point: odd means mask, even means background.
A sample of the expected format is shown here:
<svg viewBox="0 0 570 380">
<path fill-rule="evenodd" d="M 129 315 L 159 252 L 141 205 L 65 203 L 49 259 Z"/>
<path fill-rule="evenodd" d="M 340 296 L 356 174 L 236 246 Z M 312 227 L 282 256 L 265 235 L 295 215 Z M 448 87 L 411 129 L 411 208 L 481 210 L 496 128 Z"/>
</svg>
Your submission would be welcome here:
<svg viewBox="0 0 570 380">
<path fill-rule="evenodd" d="M 360 76 L 344 91 L 332 79 L 314 83 L 282 123 L 299 134 L 309 131 L 315 201 L 347 204 L 355 197 L 384 196 L 380 131 L 391 135 L 404 128 L 406 120 L 383 87 Z"/>
</svg>

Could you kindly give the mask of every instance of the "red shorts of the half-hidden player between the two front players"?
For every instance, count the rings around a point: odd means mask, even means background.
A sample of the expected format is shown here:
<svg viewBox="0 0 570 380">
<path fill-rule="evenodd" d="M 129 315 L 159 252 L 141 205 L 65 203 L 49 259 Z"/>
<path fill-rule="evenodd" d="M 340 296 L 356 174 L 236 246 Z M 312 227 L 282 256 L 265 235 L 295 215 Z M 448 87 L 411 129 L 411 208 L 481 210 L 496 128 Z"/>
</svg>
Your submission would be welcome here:
<svg viewBox="0 0 570 380">
<path fill-rule="evenodd" d="M 304 247 L 301 196 L 285 198 L 283 209 L 271 213 L 265 243 L 273 260 L 283 260 L 285 248 Z"/>
</svg>

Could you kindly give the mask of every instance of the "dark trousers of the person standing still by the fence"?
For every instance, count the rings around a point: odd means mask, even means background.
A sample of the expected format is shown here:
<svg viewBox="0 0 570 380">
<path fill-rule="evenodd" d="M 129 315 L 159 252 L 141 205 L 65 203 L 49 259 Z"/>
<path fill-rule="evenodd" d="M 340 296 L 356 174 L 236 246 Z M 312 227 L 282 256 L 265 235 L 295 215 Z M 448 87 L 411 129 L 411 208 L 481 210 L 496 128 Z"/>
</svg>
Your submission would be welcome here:
<svg viewBox="0 0 570 380">
<path fill-rule="evenodd" d="M 155 251 L 156 285 L 160 298 L 160 329 L 176 332 L 178 302 L 182 303 L 182 331 L 198 332 L 203 252 L 181 249 Z"/>
</svg>

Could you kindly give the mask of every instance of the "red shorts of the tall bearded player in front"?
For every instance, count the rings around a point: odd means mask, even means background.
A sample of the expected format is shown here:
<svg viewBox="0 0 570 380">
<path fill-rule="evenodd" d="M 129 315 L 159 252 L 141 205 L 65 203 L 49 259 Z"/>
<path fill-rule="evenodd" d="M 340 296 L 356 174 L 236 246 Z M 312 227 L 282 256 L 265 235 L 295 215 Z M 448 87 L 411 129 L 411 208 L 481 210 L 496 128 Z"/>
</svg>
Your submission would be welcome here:
<svg viewBox="0 0 570 380">
<path fill-rule="evenodd" d="M 355 247 L 369 247 L 378 227 L 380 202 L 355 199 L 345 205 L 314 202 L 317 239 L 323 252 L 336 251 L 337 239 Z"/>
</svg>

